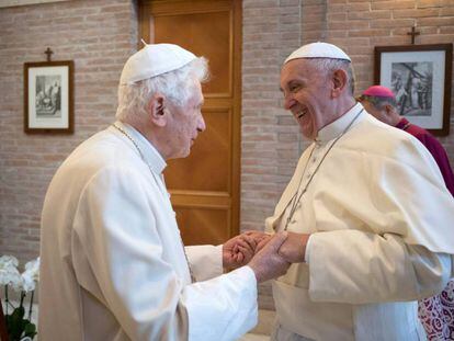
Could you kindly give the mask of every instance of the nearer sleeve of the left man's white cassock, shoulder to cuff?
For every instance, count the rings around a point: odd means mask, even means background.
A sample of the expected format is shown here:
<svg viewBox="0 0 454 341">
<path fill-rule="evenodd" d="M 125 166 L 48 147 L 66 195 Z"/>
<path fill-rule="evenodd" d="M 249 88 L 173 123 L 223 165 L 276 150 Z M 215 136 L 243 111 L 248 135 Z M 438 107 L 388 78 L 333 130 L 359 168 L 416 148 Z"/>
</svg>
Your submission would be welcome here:
<svg viewBox="0 0 454 341">
<path fill-rule="evenodd" d="M 155 217 L 162 203 L 154 190 L 159 191 L 130 169 L 104 169 L 91 179 L 71 237 L 80 285 L 109 307 L 132 340 L 239 338 L 257 323 L 253 271 L 243 266 L 184 285 L 162 258 L 166 246 Z M 84 282 L 87 269 L 100 294 Z"/>
</svg>

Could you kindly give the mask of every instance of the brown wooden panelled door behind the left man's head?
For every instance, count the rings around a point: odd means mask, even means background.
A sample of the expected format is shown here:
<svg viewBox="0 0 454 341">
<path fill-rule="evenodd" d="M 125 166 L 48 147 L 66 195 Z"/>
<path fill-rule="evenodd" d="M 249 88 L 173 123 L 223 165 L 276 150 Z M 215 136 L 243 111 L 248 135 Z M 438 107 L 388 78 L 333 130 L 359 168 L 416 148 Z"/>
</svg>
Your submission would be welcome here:
<svg viewBox="0 0 454 341">
<path fill-rule="evenodd" d="M 139 23 L 139 41 L 209 60 L 206 130 L 164 177 L 184 243 L 222 243 L 239 231 L 241 1 L 141 1 Z"/>
</svg>

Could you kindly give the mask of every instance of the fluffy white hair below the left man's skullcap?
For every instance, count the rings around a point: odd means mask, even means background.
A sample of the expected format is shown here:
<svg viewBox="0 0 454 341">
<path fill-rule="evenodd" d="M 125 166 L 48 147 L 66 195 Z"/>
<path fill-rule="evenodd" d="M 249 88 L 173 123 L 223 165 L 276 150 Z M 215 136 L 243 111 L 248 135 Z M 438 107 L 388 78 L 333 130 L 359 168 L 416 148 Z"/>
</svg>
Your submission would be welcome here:
<svg viewBox="0 0 454 341">
<path fill-rule="evenodd" d="M 204 57 L 198 57 L 180 69 L 133 84 L 120 86 L 115 117 L 124 122 L 145 117 L 147 104 L 155 93 L 161 93 L 173 104 L 183 106 L 192 94 L 194 80 L 205 82 L 208 78 L 208 61 Z"/>
</svg>

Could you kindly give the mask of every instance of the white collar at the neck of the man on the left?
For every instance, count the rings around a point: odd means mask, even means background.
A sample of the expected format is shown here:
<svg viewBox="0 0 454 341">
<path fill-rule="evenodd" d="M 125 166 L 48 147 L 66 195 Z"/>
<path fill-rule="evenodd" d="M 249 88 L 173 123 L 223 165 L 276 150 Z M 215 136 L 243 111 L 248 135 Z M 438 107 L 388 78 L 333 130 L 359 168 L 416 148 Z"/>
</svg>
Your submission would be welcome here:
<svg viewBox="0 0 454 341">
<path fill-rule="evenodd" d="M 114 125 L 121 127 L 134 139 L 143 154 L 144 161 L 151 168 L 151 170 L 157 174 L 162 173 L 167 163 L 155 146 L 127 123 L 117 121 Z"/>
</svg>

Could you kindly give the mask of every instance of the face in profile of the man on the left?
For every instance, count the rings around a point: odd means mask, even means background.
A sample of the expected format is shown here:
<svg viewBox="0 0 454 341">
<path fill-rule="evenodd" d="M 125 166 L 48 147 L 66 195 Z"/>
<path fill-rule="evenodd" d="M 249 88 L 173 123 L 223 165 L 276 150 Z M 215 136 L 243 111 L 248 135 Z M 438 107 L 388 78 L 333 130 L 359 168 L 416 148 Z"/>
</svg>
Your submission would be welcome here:
<svg viewBox="0 0 454 341">
<path fill-rule="evenodd" d="M 205 121 L 201 111 L 203 101 L 201 83 L 194 81 L 192 94 L 186 103 L 182 106 L 168 103 L 167 109 L 170 111 L 167 126 L 169 159 L 188 157 L 198 133 L 205 130 Z"/>
</svg>

